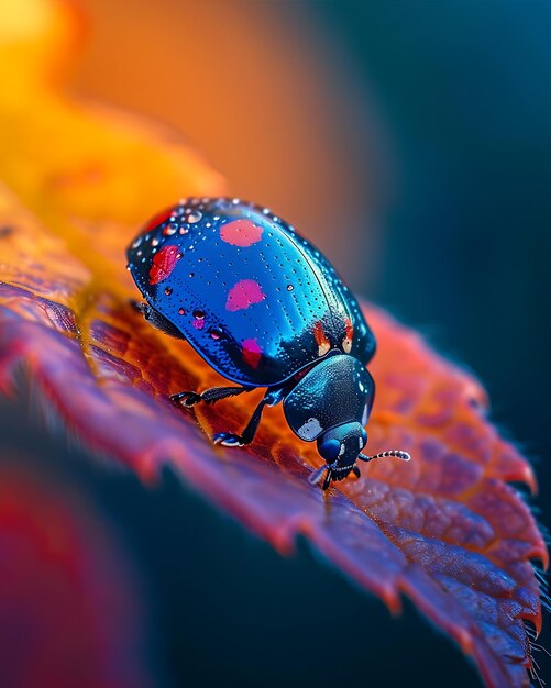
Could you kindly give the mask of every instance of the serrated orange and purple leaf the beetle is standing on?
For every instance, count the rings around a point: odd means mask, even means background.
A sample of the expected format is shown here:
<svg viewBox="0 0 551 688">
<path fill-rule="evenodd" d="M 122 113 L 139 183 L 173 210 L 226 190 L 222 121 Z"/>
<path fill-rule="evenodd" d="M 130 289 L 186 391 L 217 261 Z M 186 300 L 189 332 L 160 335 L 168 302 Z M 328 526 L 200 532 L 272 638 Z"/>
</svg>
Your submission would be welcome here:
<svg viewBox="0 0 551 688">
<path fill-rule="evenodd" d="M 196 418 L 168 402 L 221 378 L 131 309 L 123 256 L 137 223 L 180 196 L 219 193 L 221 180 L 162 129 L 48 88 L 70 16 L 65 5 L 30 4 L 40 12 L 11 29 L 0 13 L 0 67 L 19 93 L 0 95 L 2 388 L 26 366 L 98 453 L 144 480 L 170 464 L 282 553 L 305 534 L 390 610 L 409 596 L 474 657 L 488 686 L 527 686 L 525 622 L 541 624 L 530 561 L 547 566 L 547 550 L 507 485 L 535 489 L 533 475 L 485 419 L 484 391 L 366 306 L 378 341 L 370 451 L 406 448 L 409 464 L 373 462 L 323 496 L 307 481 L 320 457 L 279 408 L 266 412 L 251 447 L 212 446 L 203 433 L 241 429 L 257 399 L 199 407 Z"/>
</svg>

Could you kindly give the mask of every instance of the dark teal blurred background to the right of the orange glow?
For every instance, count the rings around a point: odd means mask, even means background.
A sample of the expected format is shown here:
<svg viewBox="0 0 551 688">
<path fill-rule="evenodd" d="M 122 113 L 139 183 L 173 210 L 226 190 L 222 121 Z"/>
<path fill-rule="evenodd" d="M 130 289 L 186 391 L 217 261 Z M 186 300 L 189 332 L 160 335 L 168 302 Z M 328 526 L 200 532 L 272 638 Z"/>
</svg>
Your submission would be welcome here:
<svg viewBox="0 0 551 688">
<path fill-rule="evenodd" d="M 551 4 L 309 9 L 346 45 L 392 140 L 394 191 L 370 297 L 483 380 L 493 420 L 535 464 L 548 524 Z M 538 661 L 549 677 L 549 659 Z"/>
</svg>

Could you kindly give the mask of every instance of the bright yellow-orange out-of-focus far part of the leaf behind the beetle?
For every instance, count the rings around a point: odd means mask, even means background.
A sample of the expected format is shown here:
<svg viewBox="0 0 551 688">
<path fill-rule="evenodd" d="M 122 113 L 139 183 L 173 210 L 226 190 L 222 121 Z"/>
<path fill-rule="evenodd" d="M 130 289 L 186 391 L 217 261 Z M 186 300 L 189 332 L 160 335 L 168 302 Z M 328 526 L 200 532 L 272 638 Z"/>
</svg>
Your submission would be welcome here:
<svg viewBox="0 0 551 688">
<path fill-rule="evenodd" d="M 129 235 L 175 197 L 223 191 L 167 127 L 60 91 L 84 35 L 73 4 L 2 0 L 0 27 L 0 180 L 95 270 L 106 252 L 120 270 Z"/>
</svg>

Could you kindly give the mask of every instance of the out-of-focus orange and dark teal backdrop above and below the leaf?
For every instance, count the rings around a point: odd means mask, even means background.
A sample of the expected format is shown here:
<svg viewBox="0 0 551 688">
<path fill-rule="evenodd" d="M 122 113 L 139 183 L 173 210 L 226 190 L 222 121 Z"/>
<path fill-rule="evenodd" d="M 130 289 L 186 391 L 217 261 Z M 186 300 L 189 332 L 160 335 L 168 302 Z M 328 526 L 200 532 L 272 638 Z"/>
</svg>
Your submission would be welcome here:
<svg viewBox="0 0 551 688">
<path fill-rule="evenodd" d="M 549 523 L 551 4 L 78 5 L 89 35 L 71 90 L 183 132 L 229 193 L 285 217 L 354 290 L 469 366 L 493 420 L 533 460 Z M 15 426 L 18 413 L 7 408 L 0 424 Z M 47 442 L 26 432 L 23 450 L 36 455 L 42 443 L 65 473 L 74 454 Z M 147 493 L 82 466 L 75 490 L 96 485 L 143 572 L 136 588 L 150 590 L 142 611 L 156 631 L 135 642 L 150 648 L 156 686 L 254 686 L 258 676 L 265 686 L 289 676 L 318 687 L 440 686 L 444 673 L 448 686 L 480 685 L 415 611 L 390 620 L 306 545 L 284 562 L 199 498 L 181 500 L 169 475 Z M 328 591 L 329 608 L 319 603 Z M 323 650 L 334 639 L 350 645 L 344 663 Z M 250 659 L 236 667 L 243 648 Z"/>
</svg>

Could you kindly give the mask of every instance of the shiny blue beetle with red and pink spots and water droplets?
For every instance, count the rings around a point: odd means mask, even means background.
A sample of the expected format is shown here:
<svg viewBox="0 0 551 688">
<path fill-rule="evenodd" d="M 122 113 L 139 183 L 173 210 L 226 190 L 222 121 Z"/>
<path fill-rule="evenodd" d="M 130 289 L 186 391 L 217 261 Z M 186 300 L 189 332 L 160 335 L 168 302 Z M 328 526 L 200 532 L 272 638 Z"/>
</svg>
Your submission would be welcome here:
<svg viewBox="0 0 551 688">
<path fill-rule="evenodd" d="M 362 454 L 375 337 L 329 260 L 282 218 L 240 199 L 190 198 L 150 220 L 126 255 L 145 319 L 235 384 L 173 395 L 176 404 L 266 388 L 243 432 L 217 433 L 214 443 L 251 443 L 264 407 L 283 402 L 293 432 L 316 441 L 326 460 L 309 478 L 326 474 L 323 490 L 360 477 L 357 459 L 410 458 Z"/>
</svg>

